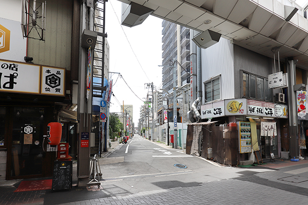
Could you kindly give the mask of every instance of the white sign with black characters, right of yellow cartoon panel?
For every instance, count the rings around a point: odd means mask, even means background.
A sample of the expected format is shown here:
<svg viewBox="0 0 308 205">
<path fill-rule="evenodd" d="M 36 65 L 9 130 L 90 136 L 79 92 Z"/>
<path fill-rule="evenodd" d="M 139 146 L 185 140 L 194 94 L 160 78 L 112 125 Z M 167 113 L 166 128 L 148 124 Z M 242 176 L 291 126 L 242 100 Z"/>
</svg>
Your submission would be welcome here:
<svg viewBox="0 0 308 205">
<path fill-rule="evenodd" d="M 247 99 L 247 115 L 287 118 L 287 106 Z"/>
</svg>

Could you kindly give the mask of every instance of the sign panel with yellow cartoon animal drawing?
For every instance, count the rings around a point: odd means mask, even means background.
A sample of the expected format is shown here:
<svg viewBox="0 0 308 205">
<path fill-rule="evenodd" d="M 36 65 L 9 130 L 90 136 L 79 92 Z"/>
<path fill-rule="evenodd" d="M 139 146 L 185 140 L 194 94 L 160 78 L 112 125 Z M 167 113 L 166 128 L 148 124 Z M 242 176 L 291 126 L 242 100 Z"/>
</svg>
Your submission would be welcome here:
<svg viewBox="0 0 308 205">
<path fill-rule="evenodd" d="M 247 115 L 246 99 L 229 99 L 225 100 L 226 115 Z"/>
</svg>

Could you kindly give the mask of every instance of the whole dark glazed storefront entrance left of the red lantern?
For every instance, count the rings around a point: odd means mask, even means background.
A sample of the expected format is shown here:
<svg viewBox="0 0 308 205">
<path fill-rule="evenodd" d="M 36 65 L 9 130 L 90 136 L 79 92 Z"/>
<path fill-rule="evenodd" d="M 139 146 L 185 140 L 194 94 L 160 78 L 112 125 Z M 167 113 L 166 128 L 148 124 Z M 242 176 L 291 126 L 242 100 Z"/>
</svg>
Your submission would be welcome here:
<svg viewBox="0 0 308 205">
<path fill-rule="evenodd" d="M 7 179 L 50 175 L 53 153 L 43 149 L 52 110 L 44 107 L 0 107 L 4 114 Z M 46 144 L 46 142 L 45 142 Z M 45 145 L 46 147 L 46 145 Z"/>
</svg>

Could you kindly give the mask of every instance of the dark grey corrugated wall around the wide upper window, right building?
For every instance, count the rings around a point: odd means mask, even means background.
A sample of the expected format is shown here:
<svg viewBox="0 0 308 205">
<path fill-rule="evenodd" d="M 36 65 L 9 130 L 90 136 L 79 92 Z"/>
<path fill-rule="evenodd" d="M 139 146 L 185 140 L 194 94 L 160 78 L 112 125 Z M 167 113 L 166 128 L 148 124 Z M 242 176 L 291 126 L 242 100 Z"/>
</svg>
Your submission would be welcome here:
<svg viewBox="0 0 308 205">
<path fill-rule="evenodd" d="M 273 73 L 273 63 L 274 60 L 272 58 L 234 45 L 235 98 L 242 97 L 241 86 L 243 85 L 243 82 L 241 81 L 240 70 L 245 70 L 249 73 L 267 78 L 268 74 Z"/>
</svg>

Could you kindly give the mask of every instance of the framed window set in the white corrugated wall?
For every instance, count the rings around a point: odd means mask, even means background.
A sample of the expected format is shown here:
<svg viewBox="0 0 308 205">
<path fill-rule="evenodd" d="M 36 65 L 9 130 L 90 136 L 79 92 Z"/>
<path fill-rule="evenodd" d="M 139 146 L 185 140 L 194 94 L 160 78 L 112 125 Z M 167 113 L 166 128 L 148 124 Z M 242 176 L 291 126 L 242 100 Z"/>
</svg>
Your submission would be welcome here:
<svg viewBox="0 0 308 205">
<path fill-rule="evenodd" d="M 205 102 L 220 99 L 220 77 L 211 79 L 204 83 Z"/>
</svg>

